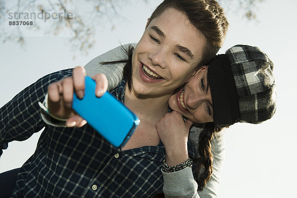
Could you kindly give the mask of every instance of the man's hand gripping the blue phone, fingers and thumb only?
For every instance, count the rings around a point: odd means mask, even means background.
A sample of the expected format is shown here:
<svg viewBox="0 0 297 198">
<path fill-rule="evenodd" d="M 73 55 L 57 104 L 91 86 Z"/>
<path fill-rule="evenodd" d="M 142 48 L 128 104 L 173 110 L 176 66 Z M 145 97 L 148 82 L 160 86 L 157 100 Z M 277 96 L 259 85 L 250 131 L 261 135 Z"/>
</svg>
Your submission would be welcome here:
<svg viewBox="0 0 297 198">
<path fill-rule="evenodd" d="M 68 118 L 66 121 L 68 127 L 82 127 L 87 123 L 71 108 L 74 92 L 80 99 L 85 95 L 85 75 L 85 68 L 75 67 L 72 77 L 64 78 L 48 87 L 49 112 L 60 118 Z M 101 97 L 107 90 L 107 78 L 104 74 L 97 74 L 92 78 L 96 81 L 95 94 Z"/>
</svg>

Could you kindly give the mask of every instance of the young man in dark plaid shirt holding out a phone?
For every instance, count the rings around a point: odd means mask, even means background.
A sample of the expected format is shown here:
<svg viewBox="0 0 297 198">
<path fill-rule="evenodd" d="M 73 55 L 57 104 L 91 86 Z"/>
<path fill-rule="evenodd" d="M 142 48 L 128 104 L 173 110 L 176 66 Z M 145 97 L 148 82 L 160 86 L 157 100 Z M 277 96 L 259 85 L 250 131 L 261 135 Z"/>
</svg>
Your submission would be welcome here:
<svg viewBox="0 0 297 198">
<path fill-rule="evenodd" d="M 41 120 L 36 107 L 45 98 L 45 88 L 71 75 L 71 69 L 40 79 L 3 106 L 1 148 L 46 126 L 35 153 L 20 169 L 14 197 L 147 198 L 161 193 L 165 152 L 168 164 L 176 159 L 165 151 L 155 125 L 168 112 L 173 91 L 221 47 L 227 26 L 222 9 L 212 0 L 165 0 L 158 6 L 127 64 L 131 79 L 127 76 L 114 93 L 142 120 L 122 149 L 112 147 L 88 125 L 63 128 Z M 60 93 L 64 109 L 71 106 L 71 92 L 60 90 L 69 80 L 49 86 L 52 113 L 59 115 L 52 107 Z M 54 89 L 56 96 L 50 93 Z M 190 150 L 195 158 L 195 149 Z"/>
</svg>

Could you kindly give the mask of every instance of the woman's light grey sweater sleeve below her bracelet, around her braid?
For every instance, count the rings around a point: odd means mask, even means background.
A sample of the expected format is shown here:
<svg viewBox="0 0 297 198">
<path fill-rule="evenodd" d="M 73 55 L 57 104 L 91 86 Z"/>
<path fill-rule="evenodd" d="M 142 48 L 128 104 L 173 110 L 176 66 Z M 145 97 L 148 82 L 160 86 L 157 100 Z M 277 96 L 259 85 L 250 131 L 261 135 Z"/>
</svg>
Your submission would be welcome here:
<svg viewBox="0 0 297 198">
<path fill-rule="evenodd" d="M 201 129 L 193 127 L 189 135 L 189 139 L 194 143 L 196 148 L 198 148 L 200 132 Z M 211 142 L 211 146 L 213 153 L 213 174 L 205 188 L 202 191 L 197 191 L 198 184 L 194 180 L 192 168 L 190 167 L 173 173 L 162 171 L 165 198 L 216 198 L 225 156 L 224 131 L 216 135 Z"/>
</svg>

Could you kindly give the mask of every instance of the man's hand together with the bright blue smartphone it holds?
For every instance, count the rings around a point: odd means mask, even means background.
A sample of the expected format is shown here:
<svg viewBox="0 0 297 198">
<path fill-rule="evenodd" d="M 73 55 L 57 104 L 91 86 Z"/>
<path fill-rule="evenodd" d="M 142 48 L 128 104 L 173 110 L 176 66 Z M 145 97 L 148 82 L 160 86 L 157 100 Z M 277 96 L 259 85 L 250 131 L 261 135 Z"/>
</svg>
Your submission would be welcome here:
<svg viewBox="0 0 297 198">
<path fill-rule="evenodd" d="M 123 147 L 140 120 L 106 92 L 107 84 L 104 74 L 97 74 L 92 79 L 85 76 L 84 68 L 76 67 L 72 77 L 49 85 L 49 113 L 68 118 L 68 127 L 82 127 L 88 121 L 113 146 Z"/>
</svg>

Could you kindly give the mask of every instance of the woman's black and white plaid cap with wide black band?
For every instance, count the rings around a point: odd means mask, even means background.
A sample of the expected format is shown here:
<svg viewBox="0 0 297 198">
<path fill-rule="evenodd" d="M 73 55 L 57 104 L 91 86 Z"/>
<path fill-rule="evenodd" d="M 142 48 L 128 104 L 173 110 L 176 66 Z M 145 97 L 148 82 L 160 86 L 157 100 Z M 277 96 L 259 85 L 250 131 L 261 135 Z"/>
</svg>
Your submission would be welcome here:
<svg viewBox="0 0 297 198">
<path fill-rule="evenodd" d="M 208 66 L 215 127 L 257 124 L 276 110 L 273 62 L 257 47 L 236 45 Z"/>
</svg>

